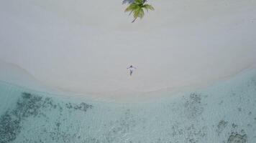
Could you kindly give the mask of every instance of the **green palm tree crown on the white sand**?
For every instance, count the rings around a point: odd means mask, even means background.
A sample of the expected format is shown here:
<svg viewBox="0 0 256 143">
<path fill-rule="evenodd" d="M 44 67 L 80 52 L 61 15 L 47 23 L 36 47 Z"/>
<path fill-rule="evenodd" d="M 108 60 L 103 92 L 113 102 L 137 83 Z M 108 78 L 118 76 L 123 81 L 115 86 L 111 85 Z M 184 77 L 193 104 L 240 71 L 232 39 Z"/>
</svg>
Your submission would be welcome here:
<svg viewBox="0 0 256 143">
<path fill-rule="evenodd" d="M 154 10 L 153 6 L 151 6 L 150 4 L 145 4 L 147 0 L 134 0 L 132 2 L 132 4 L 130 4 L 127 9 L 125 9 L 124 12 L 128 12 L 130 11 L 130 14 L 133 14 L 134 16 L 134 20 L 132 21 L 132 23 L 138 18 L 140 17 L 140 19 L 142 19 L 142 17 L 145 15 L 144 10 L 148 11 L 148 10 Z"/>
</svg>

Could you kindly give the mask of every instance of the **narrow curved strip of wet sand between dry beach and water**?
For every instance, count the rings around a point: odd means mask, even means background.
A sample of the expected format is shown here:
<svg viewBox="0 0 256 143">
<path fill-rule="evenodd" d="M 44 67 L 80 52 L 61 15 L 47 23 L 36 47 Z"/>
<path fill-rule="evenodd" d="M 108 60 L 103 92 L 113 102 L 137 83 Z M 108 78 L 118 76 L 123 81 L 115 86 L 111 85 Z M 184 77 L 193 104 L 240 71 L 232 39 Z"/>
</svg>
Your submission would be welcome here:
<svg viewBox="0 0 256 143">
<path fill-rule="evenodd" d="M 256 66 L 252 65 L 247 69 L 242 69 L 236 74 L 229 75 L 229 77 L 200 85 L 165 88 L 147 92 L 120 90 L 116 92 L 105 93 L 79 93 L 50 87 L 49 85 L 42 84 L 40 81 L 35 79 L 35 77 L 32 77 L 28 71 L 20 68 L 15 64 L 6 63 L 5 61 L 0 61 L 0 69 L 1 84 L 22 88 L 27 91 L 38 92 L 41 94 L 50 94 L 55 97 L 84 97 L 94 102 L 142 103 L 150 101 L 159 102 L 163 100 L 164 97 L 175 98 L 176 96 L 186 92 L 195 92 L 198 89 L 206 89 L 207 87 L 212 87 L 213 85 L 229 81 L 229 79 L 245 74 L 247 71 L 255 70 Z"/>
</svg>

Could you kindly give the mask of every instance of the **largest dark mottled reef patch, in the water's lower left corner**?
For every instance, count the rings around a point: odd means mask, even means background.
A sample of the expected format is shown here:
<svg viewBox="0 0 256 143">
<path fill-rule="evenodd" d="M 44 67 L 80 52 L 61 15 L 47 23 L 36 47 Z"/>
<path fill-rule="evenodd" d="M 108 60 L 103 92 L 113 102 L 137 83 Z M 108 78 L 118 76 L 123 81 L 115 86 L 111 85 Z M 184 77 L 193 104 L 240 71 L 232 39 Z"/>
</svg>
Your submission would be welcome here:
<svg viewBox="0 0 256 143">
<path fill-rule="evenodd" d="M 56 104 L 52 98 L 49 97 L 41 97 L 36 94 L 30 94 L 27 92 L 23 92 L 21 97 L 18 99 L 17 104 L 13 109 L 8 109 L 4 114 L 0 117 L 0 143 L 8 143 L 17 139 L 17 136 L 25 129 L 26 127 L 22 127 L 22 124 L 27 121 L 30 117 L 39 118 L 43 117 L 44 121 L 47 124 L 48 122 L 48 111 L 55 110 L 58 112 L 60 116 L 63 112 L 63 107 L 67 107 L 68 109 L 74 109 L 75 111 L 86 112 L 88 109 L 91 109 L 93 106 L 82 102 L 81 104 Z M 63 119 L 64 121 L 65 119 Z M 51 137 L 52 141 L 58 140 L 59 142 L 71 142 L 70 139 L 78 138 L 76 134 L 69 134 L 67 132 L 60 131 L 61 122 L 55 122 L 55 126 L 51 131 L 47 131 L 47 127 L 42 125 L 42 132 L 40 132 L 40 138 L 37 139 L 29 139 L 27 137 L 23 137 L 24 141 L 19 142 L 45 142 L 43 139 L 44 133 L 46 137 Z M 73 125 L 70 124 L 69 128 L 72 129 Z"/>
</svg>

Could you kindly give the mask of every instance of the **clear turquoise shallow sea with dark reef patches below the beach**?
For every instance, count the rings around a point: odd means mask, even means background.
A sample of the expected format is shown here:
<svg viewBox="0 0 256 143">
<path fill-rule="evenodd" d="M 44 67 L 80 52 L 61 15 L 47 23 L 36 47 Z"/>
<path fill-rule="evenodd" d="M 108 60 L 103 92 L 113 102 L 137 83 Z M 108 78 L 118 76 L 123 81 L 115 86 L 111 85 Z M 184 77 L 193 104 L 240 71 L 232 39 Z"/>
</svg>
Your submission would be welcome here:
<svg viewBox="0 0 256 143">
<path fill-rule="evenodd" d="M 0 143 L 256 142 L 256 70 L 157 102 L 62 97 L 0 82 Z"/>
</svg>

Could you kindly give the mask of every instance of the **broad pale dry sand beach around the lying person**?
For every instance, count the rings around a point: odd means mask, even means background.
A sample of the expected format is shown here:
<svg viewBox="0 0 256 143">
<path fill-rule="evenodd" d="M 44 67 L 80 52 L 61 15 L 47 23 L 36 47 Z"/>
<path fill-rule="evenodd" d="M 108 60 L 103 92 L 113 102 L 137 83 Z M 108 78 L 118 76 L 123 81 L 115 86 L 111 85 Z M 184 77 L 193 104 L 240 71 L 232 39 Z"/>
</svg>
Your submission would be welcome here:
<svg viewBox="0 0 256 143">
<path fill-rule="evenodd" d="M 49 87 L 127 94 L 201 87 L 256 62 L 256 1 L 4 0 L 0 59 Z M 126 69 L 137 67 L 132 77 Z"/>
</svg>

